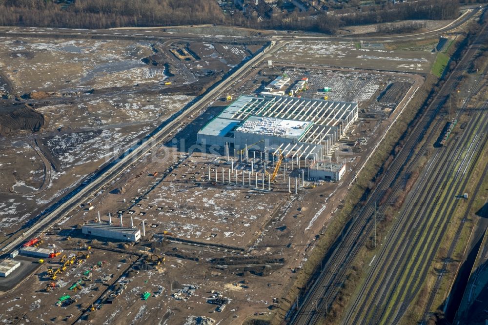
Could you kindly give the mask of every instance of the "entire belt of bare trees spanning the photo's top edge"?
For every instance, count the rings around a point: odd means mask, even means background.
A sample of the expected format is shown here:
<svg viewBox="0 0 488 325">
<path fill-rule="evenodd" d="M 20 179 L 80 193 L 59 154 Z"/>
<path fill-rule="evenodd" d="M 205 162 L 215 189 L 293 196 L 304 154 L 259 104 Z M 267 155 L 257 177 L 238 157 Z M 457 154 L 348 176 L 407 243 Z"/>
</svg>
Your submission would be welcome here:
<svg viewBox="0 0 488 325">
<path fill-rule="evenodd" d="M 49 0 L 0 0 L 0 25 L 111 28 L 215 23 L 334 33 L 344 25 L 445 20 L 455 18 L 458 12 L 458 0 L 419 0 L 337 15 L 281 13 L 258 21 L 258 17 L 244 16 L 240 11 L 225 16 L 215 0 L 76 0 L 68 6 Z"/>
</svg>

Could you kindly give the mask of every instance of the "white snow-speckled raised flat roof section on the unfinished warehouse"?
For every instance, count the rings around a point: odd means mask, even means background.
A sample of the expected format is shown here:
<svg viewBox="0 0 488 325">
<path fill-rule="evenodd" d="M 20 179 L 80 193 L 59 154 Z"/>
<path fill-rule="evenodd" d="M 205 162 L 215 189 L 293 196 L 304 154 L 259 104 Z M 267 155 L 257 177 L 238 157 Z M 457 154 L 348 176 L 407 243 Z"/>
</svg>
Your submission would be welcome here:
<svg viewBox="0 0 488 325">
<path fill-rule="evenodd" d="M 298 139 L 311 125 L 312 122 L 250 116 L 235 131 Z"/>
</svg>

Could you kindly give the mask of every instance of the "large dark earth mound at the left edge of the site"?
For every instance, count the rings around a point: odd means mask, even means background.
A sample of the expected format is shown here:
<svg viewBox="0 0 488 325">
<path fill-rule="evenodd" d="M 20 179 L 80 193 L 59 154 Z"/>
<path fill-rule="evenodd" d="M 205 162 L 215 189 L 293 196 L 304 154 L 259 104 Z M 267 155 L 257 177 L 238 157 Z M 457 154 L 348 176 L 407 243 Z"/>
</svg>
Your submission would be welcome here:
<svg viewBox="0 0 488 325">
<path fill-rule="evenodd" d="M 0 109 L 0 136 L 20 130 L 37 132 L 44 125 L 44 116 L 28 106 Z"/>
</svg>

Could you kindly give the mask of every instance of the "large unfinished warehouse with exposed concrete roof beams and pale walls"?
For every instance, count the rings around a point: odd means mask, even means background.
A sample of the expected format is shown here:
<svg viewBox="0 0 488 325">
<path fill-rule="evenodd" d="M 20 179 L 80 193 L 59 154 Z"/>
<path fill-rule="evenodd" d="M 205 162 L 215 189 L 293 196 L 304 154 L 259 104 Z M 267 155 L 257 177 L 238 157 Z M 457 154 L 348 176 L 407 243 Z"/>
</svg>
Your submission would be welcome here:
<svg viewBox="0 0 488 325">
<path fill-rule="evenodd" d="M 295 97 L 240 96 L 198 132 L 197 142 L 282 151 L 322 160 L 358 118 L 358 104 Z"/>
</svg>

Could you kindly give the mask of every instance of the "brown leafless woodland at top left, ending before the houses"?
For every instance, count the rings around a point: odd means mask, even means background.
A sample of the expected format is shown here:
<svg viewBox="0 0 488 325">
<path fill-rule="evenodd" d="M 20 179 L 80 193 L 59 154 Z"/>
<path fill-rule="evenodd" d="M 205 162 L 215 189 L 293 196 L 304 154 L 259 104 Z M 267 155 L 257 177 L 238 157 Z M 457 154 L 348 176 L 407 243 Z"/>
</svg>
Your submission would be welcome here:
<svg viewBox="0 0 488 325">
<path fill-rule="evenodd" d="M 213 0 L 78 0 L 69 6 L 44 0 L 0 0 L 0 25 L 112 28 L 224 23 Z"/>
</svg>

